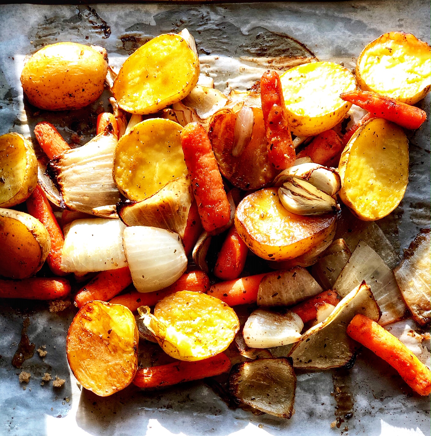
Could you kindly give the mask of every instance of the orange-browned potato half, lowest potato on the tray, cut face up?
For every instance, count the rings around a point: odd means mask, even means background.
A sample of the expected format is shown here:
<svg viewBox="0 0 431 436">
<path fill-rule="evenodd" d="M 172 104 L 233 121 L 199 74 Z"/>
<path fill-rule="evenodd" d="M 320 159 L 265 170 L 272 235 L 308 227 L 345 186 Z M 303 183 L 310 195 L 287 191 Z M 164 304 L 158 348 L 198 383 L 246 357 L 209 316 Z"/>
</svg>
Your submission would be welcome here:
<svg viewBox="0 0 431 436">
<path fill-rule="evenodd" d="M 129 386 L 135 377 L 138 341 L 138 327 L 129 308 L 90 301 L 69 327 L 66 354 L 79 383 L 106 397 Z"/>
</svg>

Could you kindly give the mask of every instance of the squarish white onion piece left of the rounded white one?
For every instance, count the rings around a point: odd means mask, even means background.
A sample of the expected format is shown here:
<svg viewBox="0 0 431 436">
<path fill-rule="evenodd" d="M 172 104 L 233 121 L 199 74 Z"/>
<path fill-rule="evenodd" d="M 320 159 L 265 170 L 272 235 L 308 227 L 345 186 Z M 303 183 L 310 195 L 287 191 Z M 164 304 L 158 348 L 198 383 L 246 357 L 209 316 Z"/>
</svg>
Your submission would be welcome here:
<svg viewBox="0 0 431 436">
<path fill-rule="evenodd" d="M 122 245 L 126 226 L 119 219 L 87 218 L 64 227 L 61 269 L 94 272 L 127 266 Z"/>
</svg>

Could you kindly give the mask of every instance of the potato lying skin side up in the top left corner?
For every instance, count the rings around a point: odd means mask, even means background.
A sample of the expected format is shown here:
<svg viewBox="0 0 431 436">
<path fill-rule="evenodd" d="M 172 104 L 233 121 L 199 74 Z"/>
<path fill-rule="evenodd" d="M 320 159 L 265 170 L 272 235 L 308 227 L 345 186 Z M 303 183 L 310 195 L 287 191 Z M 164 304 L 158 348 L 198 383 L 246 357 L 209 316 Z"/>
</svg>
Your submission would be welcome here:
<svg viewBox="0 0 431 436">
<path fill-rule="evenodd" d="M 47 45 L 24 65 L 21 84 L 40 109 L 80 109 L 103 92 L 108 64 L 102 54 L 74 42 Z"/>
</svg>

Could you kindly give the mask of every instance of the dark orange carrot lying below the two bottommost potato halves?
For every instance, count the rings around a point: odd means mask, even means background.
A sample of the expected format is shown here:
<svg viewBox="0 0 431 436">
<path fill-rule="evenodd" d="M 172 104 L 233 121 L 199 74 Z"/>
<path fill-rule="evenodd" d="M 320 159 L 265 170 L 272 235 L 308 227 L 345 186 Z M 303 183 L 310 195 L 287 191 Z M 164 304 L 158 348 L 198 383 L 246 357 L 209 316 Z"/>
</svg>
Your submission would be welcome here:
<svg viewBox="0 0 431 436">
<path fill-rule="evenodd" d="M 209 359 L 195 362 L 176 361 L 151 368 L 139 368 L 133 384 L 139 388 L 160 388 L 176 385 L 183 381 L 220 375 L 231 369 L 231 361 L 226 354 L 220 353 Z"/>
</svg>

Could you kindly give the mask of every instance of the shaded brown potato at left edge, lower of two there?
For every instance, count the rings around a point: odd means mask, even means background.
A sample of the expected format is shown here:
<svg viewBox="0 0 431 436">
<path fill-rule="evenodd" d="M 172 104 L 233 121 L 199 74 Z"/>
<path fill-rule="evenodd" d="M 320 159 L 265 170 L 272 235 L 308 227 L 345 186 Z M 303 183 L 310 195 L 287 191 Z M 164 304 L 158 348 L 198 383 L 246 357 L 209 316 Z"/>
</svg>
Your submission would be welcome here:
<svg viewBox="0 0 431 436">
<path fill-rule="evenodd" d="M 51 250 L 51 238 L 38 219 L 24 212 L 0 208 L 0 276 L 33 276 Z"/>
</svg>

